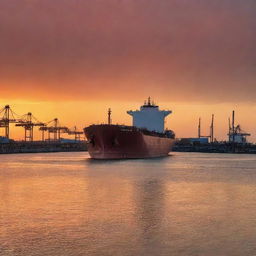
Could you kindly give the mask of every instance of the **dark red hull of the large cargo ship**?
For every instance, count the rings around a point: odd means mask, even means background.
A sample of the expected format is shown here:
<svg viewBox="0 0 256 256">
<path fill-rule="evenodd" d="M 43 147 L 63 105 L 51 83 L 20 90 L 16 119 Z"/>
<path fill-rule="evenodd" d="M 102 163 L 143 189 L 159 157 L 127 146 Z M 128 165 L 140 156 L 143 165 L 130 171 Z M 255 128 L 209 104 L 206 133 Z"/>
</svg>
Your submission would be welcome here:
<svg viewBox="0 0 256 256">
<path fill-rule="evenodd" d="M 167 156 L 174 138 L 143 132 L 136 127 L 91 125 L 84 129 L 94 159 L 132 159 Z"/>
</svg>

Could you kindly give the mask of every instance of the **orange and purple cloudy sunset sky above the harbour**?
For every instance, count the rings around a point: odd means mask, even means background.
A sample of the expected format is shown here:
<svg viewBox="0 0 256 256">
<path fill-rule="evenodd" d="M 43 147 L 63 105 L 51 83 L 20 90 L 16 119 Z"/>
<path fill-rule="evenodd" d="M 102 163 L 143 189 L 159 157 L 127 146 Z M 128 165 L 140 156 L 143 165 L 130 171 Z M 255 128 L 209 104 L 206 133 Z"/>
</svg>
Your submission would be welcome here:
<svg viewBox="0 0 256 256">
<path fill-rule="evenodd" d="M 0 0 L 0 108 L 82 128 L 108 107 L 130 124 L 152 96 L 178 137 L 200 116 L 208 135 L 214 113 L 225 139 L 235 109 L 256 141 L 255 13 L 255 0 Z"/>
</svg>

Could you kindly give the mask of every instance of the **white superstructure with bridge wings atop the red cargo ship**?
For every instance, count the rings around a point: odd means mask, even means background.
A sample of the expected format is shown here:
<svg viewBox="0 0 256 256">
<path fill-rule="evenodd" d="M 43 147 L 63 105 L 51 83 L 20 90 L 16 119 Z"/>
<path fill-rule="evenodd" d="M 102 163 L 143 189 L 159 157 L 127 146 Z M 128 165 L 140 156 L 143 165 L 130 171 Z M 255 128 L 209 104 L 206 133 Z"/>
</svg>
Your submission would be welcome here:
<svg viewBox="0 0 256 256">
<path fill-rule="evenodd" d="M 133 117 L 133 126 L 146 128 L 149 131 L 164 132 L 165 117 L 171 114 L 169 110 L 159 110 L 159 107 L 151 103 L 150 98 L 140 110 L 127 111 Z"/>
</svg>

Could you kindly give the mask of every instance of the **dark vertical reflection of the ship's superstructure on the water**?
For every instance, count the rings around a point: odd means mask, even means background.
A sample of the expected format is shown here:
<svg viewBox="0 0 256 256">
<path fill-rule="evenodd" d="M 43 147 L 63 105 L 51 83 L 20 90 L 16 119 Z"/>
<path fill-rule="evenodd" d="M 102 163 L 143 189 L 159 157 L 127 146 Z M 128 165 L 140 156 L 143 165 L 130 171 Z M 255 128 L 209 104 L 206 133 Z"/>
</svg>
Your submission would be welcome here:
<svg viewBox="0 0 256 256">
<path fill-rule="evenodd" d="M 160 255 L 165 212 L 165 184 L 150 178 L 134 186 L 135 216 L 142 255 Z"/>
</svg>

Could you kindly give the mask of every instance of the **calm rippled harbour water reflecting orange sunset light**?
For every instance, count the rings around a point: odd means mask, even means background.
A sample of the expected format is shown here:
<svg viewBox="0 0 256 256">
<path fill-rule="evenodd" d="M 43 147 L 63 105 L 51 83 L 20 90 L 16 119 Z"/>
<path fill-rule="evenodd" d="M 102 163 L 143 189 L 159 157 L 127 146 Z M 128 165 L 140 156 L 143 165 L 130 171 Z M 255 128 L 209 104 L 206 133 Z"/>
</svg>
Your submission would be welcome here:
<svg viewBox="0 0 256 256">
<path fill-rule="evenodd" d="M 0 255 L 256 255 L 256 155 L 0 155 Z"/>
</svg>

